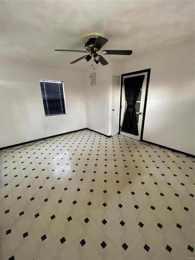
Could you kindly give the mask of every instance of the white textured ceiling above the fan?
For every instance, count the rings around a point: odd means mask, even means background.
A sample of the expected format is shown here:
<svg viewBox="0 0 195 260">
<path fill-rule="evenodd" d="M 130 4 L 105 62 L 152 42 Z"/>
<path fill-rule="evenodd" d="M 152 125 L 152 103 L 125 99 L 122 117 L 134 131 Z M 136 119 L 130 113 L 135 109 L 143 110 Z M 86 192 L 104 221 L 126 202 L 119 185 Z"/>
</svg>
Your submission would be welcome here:
<svg viewBox="0 0 195 260">
<path fill-rule="evenodd" d="M 89 64 L 83 34 L 108 38 L 105 50 L 133 50 L 131 56 L 103 55 L 108 62 L 132 59 L 194 40 L 194 1 L 1 1 L 1 61 L 83 69 Z"/>
</svg>

